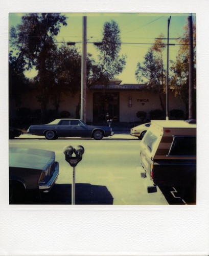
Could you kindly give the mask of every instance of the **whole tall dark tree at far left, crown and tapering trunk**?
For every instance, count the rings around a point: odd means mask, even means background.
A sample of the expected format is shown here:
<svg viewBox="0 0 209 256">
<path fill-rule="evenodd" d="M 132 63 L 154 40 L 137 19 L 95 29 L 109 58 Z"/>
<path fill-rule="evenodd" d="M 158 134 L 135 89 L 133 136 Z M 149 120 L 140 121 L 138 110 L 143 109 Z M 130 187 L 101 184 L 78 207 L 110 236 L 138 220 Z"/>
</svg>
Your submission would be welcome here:
<svg viewBox="0 0 209 256">
<path fill-rule="evenodd" d="M 54 37 L 59 33 L 61 25 L 67 25 L 66 17 L 59 13 L 30 13 L 22 16 L 21 22 L 17 29 L 11 29 L 11 40 L 16 41 L 16 50 L 25 59 L 25 69 L 34 66 L 38 70 L 35 78 L 38 84 L 37 99 L 44 119 L 54 78 L 51 59 L 57 49 Z"/>
</svg>

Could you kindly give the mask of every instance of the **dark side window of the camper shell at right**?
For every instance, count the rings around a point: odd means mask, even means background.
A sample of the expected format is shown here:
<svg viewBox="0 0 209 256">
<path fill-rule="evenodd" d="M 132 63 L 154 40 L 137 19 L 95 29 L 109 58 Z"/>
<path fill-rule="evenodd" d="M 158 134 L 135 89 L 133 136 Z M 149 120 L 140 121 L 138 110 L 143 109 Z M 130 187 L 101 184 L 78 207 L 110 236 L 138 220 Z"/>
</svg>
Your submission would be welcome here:
<svg viewBox="0 0 209 256">
<path fill-rule="evenodd" d="M 196 136 L 175 136 L 171 145 L 169 156 L 196 156 Z"/>
</svg>

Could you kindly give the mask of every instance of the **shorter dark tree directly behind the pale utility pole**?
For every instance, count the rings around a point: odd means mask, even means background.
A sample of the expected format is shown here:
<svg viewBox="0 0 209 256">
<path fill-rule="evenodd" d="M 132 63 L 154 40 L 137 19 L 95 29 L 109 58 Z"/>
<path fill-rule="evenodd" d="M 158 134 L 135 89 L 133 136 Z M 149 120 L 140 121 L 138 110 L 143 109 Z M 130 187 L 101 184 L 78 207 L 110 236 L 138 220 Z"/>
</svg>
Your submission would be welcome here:
<svg viewBox="0 0 209 256">
<path fill-rule="evenodd" d="M 56 82 L 53 84 L 51 98 L 58 112 L 62 94 L 74 96 L 77 92 L 81 91 L 81 54 L 76 47 L 68 47 L 63 44 L 56 51 L 54 59 L 56 63 L 54 73 L 57 76 Z M 96 69 L 93 70 L 96 67 L 96 63 L 90 54 L 87 54 L 86 66 L 87 86 L 89 86 L 93 79 L 92 77 L 96 76 Z M 79 111 L 80 97 L 76 106 L 77 118 L 80 118 Z"/>
</svg>

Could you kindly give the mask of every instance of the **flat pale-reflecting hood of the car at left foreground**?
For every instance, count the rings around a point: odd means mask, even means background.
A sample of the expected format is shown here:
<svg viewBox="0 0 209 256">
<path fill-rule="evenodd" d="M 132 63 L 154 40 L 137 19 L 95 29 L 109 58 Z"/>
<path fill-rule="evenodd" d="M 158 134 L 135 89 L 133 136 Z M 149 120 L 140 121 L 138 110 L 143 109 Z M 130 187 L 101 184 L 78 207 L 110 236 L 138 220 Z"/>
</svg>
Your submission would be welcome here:
<svg viewBox="0 0 209 256">
<path fill-rule="evenodd" d="M 9 148 L 9 166 L 32 169 L 44 169 L 55 160 L 52 151 L 38 150 L 36 148 Z"/>
</svg>

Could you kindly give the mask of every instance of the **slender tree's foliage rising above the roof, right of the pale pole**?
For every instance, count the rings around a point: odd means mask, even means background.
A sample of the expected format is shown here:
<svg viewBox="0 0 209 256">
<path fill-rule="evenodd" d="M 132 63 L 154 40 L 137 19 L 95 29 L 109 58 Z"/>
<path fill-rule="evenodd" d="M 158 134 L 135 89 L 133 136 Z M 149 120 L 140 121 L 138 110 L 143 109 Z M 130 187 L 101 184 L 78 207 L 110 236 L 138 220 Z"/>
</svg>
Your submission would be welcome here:
<svg viewBox="0 0 209 256">
<path fill-rule="evenodd" d="M 91 84 L 97 81 L 107 84 L 108 81 L 119 75 L 126 64 L 126 56 L 120 56 L 121 37 L 119 26 L 114 20 L 106 22 L 103 28 L 101 44 L 96 45 L 99 60 L 91 65 Z"/>
</svg>

